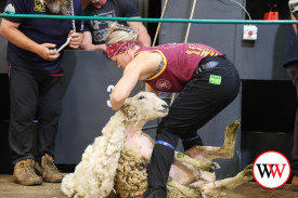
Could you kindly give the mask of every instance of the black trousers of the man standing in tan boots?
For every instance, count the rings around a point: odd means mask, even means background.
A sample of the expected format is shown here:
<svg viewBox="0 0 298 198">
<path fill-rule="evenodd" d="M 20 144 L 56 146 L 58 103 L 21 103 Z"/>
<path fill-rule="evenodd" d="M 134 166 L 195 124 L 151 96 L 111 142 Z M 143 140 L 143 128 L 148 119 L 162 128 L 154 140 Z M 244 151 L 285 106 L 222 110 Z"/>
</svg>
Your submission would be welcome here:
<svg viewBox="0 0 298 198">
<path fill-rule="evenodd" d="M 54 155 L 54 141 L 61 116 L 62 77 L 31 75 L 10 69 L 10 146 L 13 163 L 40 160 Z M 38 114 L 36 114 L 38 111 Z M 38 115 L 38 117 L 36 117 Z M 33 121 L 37 119 L 37 156 L 33 148 Z"/>
</svg>

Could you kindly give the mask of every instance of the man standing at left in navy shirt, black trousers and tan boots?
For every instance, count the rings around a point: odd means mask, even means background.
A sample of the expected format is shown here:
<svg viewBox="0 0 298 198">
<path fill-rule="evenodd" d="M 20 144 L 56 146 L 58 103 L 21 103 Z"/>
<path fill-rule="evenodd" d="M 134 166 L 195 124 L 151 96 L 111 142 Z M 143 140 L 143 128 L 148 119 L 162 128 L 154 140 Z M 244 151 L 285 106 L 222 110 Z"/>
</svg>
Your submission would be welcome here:
<svg viewBox="0 0 298 198">
<path fill-rule="evenodd" d="M 82 15 L 82 8 L 80 0 L 8 0 L 4 13 Z M 68 19 L 2 18 L 1 35 L 9 41 L 9 140 L 14 164 L 13 175 L 22 185 L 38 185 L 43 180 L 61 182 L 63 179 L 53 162 L 63 96 L 63 51 L 57 52 L 57 49 L 68 37 L 72 38 L 68 45 L 73 49 L 79 48 L 82 22 L 77 21 L 75 24 L 79 32 L 75 32 L 73 26 Z M 34 156 L 33 121 L 37 110 L 37 156 Z"/>
</svg>

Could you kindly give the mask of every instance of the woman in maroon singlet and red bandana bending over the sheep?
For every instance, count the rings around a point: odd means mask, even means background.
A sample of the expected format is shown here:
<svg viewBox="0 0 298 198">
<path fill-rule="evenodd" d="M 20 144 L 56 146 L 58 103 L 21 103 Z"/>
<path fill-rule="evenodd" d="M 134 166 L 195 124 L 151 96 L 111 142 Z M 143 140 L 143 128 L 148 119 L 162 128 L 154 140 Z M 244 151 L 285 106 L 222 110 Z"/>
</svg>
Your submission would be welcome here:
<svg viewBox="0 0 298 198">
<path fill-rule="evenodd" d="M 197 130 L 226 107 L 238 94 L 241 80 L 225 55 L 200 43 L 169 43 L 154 48 L 138 44 L 138 31 L 113 24 L 106 52 L 121 79 L 111 94 L 118 110 L 138 80 L 146 82 L 145 91 L 159 95 L 179 92 L 169 114 L 157 128 L 156 145 L 148 167 L 148 190 L 137 197 L 166 198 L 167 180 L 179 137 L 184 149 L 200 145 Z"/>
</svg>

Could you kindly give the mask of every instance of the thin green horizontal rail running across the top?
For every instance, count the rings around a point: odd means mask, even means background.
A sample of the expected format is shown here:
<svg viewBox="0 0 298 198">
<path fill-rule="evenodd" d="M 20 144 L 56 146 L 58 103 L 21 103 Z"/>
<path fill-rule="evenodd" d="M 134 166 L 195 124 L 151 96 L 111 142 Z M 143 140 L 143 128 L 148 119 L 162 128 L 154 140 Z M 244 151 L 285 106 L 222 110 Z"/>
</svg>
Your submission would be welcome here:
<svg viewBox="0 0 298 198">
<path fill-rule="evenodd" d="M 248 19 L 185 19 L 185 18 L 131 18 L 131 17 L 105 17 L 105 16 L 66 16 L 66 15 L 40 15 L 40 14 L 3 14 L 1 17 L 18 18 L 52 18 L 52 19 L 99 19 L 99 21 L 118 21 L 118 22 L 151 22 L 151 23 L 193 23 L 193 24 L 298 24 L 298 21 L 248 21 Z"/>
</svg>

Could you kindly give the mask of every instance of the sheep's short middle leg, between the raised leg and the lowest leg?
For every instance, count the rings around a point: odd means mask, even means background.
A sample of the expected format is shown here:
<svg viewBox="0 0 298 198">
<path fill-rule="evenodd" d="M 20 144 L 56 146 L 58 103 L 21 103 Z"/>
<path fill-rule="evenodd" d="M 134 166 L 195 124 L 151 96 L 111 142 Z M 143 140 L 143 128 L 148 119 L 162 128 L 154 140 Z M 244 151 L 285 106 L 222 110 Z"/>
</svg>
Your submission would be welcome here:
<svg viewBox="0 0 298 198">
<path fill-rule="evenodd" d="M 174 153 L 174 159 L 181 162 L 186 162 L 189 164 L 192 164 L 202 171 L 215 172 L 216 169 L 220 168 L 217 162 L 199 161 L 179 151 Z"/>
</svg>

